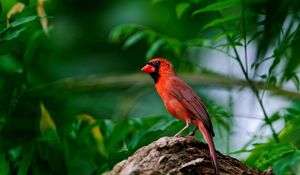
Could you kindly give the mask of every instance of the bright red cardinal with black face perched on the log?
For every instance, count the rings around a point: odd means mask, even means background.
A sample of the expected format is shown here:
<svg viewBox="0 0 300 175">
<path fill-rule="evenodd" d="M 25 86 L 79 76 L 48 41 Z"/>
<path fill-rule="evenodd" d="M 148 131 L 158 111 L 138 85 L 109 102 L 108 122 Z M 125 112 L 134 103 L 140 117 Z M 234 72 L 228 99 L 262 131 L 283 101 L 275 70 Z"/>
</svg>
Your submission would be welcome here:
<svg viewBox="0 0 300 175">
<path fill-rule="evenodd" d="M 216 150 L 213 142 L 214 131 L 201 99 L 193 89 L 175 73 L 172 64 L 164 58 L 150 60 L 142 69 L 148 73 L 155 83 L 157 93 L 163 100 L 168 112 L 186 123 L 175 136 L 180 136 L 191 124 L 198 127 L 208 143 L 213 169 L 219 175 Z"/>
</svg>

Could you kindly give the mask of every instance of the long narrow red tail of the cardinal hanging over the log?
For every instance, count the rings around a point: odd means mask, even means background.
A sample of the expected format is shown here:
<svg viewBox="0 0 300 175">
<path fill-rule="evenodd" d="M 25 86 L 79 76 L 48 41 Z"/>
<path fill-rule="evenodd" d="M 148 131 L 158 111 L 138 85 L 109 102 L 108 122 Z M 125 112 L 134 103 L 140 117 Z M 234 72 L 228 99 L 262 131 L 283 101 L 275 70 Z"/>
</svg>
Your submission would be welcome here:
<svg viewBox="0 0 300 175">
<path fill-rule="evenodd" d="M 198 126 L 198 129 L 200 130 L 200 132 L 202 133 L 205 141 L 208 144 L 209 153 L 210 153 L 210 157 L 211 157 L 211 161 L 213 164 L 215 175 L 219 175 L 220 173 L 219 173 L 219 167 L 217 164 L 216 149 L 215 149 L 214 141 L 212 138 L 212 134 L 208 132 L 208 130 L 206 129 L 206 127 L 203 125 L 203 123 L 200 120 L 197 121 L 197 126 Z"/>
</svg>

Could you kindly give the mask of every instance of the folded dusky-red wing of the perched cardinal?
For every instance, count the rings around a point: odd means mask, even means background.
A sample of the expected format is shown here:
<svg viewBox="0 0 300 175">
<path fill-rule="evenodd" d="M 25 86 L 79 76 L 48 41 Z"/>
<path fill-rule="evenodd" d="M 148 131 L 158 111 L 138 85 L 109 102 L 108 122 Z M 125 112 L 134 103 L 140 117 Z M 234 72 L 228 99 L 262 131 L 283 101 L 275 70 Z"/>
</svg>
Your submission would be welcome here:
<svg viewBox="0 0 300 175">
<path fill-rule="evenodd" d="M 170 93 L 177 98 L 194 117 L 200 119 L 207 130 L 214 136 L 211 120 L 206 107 L 196 92 L 178 77 L 170 79 Z"/>
</svg>

